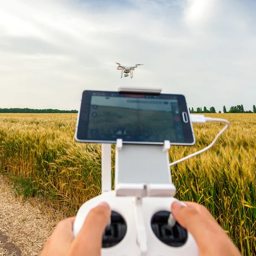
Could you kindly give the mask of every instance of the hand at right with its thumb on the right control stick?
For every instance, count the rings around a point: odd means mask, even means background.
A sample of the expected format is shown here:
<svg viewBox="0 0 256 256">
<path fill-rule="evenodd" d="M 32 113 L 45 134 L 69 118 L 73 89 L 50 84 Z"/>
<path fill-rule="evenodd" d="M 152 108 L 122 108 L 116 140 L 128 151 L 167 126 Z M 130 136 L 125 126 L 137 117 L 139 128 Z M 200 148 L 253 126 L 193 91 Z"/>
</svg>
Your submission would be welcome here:
<svg viewBox="0 0 256 256">
<path fill-rule="evenodd" d="M 227 233 L 215 221 L 208 210 L 196 203 L 175 201 L 171 211 L 176 221 L 194 237 L 199 256 L 241 256 Z"/>
</svg>

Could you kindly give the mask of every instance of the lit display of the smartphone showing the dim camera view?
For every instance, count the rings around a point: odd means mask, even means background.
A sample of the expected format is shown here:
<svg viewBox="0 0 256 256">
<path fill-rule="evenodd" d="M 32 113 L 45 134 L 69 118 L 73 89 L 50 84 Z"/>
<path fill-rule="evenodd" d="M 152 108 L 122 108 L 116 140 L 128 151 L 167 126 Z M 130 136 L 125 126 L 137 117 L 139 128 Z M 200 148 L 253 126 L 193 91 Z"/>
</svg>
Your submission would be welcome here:
<svg viewBox="0 0 256 256">
<path fill-rule="evenodd" d="M 88 140 L 184 142 L 177 99 L 93 93 Z"/>
</svg>

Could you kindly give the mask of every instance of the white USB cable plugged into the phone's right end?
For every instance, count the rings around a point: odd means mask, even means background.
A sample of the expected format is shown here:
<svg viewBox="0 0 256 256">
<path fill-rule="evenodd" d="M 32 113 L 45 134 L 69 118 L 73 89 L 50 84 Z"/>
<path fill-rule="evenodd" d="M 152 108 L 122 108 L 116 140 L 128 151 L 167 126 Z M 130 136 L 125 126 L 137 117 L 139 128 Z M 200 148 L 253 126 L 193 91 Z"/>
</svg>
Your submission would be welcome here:
<svg viewBox="0 0 256 256">
<path fill-rule="evenodd" d="M 197 152 L 195 152 L 195 153 L 193 153 L 193 154 L 190 154 L 190 155 L 188 155 L 187 157 L 183 157 L 183 158 L 181 158 L 180 160 L 177 160 L 177 161 L 175 161 L 175 162 L 173 162 L 173 163 L 170 163 L 169 166 L 173 166 L 173 165 L 175 165 L 176 163 L 180 163 L 180 162 L 182 162 L 182 161 L 184 161 L 184 160 L 187 160 L 187 159 L 189 159 L 189 158 L 191 158 L 191 157 L 194 157 L 194 156 L 196 156 L 196 155 L 198 155 L 198 154 L 201 154 L 201 153 L 203 153 L 204 151 L 207 151 L 209 148 L 211 148 L 211 147 L 216 143 L 216 141 L 217 141 L 218 138 L 221 136 L 221 134 L 223 134 L 224 131 L 226 131 L 227 128 L 230 126 L 230 122 L 228 122 L 226 119 L 205 117 L 204 115 L 195 115 L 195 114 L 193 115 L 193 114 L 190 114 L 190 119 L 191 119 L 191 122 L 192 122 L 192 123 L 201 123 L 201 124 L 204 124 L 204 123 L 206 123 L 206 122 L 225 122 L 227 125 L 218 133 L 218 135 L 215 137 L 215 139 L 213 140 L 213 142 L 212 142 L 209 146 L 207 146 L 206 148 L 203 148 L 202 150 L 197 151 Z"/>
</svg>

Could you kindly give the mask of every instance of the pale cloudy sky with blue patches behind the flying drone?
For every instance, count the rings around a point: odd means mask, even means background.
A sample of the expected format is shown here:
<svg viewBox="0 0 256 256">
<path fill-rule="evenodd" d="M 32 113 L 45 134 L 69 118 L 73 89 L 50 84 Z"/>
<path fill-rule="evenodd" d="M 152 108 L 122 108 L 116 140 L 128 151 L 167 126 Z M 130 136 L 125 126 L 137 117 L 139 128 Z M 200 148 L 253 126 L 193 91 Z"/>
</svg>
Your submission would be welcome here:
<svg viewBox="0 0 256 256">
<path fill-rule="evenodd" d="M 255 0 L 0 0 L 0 108 L 79 109 L 84 90 L 256 105 Z M 133 79 L 115 62 L 144 64 Z"/>
</svg>

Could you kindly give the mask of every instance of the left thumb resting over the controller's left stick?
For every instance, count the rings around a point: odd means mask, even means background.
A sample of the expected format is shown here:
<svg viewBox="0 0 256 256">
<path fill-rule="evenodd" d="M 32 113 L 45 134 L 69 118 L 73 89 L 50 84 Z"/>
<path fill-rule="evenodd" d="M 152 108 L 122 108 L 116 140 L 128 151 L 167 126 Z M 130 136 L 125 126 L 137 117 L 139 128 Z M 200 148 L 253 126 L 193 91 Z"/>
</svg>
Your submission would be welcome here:
<svg viewBox="0 0 256 256">
<path fill-rule="evenodd" d="M 91 209 L 74 240 L 72 252 L 77 255 L 100 256 L 102 236 L 110 217 L 111 209 L 107 203 Z"/>
</svg>

